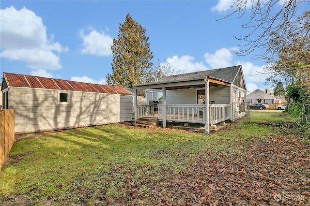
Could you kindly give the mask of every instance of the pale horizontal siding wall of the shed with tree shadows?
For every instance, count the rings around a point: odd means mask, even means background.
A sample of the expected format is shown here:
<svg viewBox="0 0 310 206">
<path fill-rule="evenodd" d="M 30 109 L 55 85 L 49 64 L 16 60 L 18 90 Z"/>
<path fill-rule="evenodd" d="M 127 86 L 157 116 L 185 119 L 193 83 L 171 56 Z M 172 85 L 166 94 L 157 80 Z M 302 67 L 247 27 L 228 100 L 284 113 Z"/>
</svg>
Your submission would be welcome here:
<svg viewBox="0 0 310 206">
<path fill-rule="evenodd" d="M 69 104 L 58 104 L 61 90 L 10 88 L 10 108 L 15 108 L 15 132 L 130 121 L 132 96 L 79 91 L 69 93 Z"/>
</svg>

